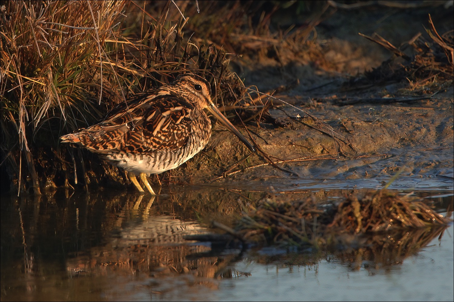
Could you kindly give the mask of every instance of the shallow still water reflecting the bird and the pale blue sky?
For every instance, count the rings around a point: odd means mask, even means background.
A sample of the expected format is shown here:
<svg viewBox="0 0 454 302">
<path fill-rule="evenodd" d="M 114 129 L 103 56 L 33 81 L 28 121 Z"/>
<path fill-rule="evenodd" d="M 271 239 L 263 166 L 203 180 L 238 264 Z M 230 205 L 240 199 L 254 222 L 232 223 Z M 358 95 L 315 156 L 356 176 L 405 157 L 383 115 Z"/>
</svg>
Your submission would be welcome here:
<svg viewBox="0 0 454 302">
<path fill-rule="evenodd" d="M 394 189 L 408 193 L 412 186 L 403 190 L 404 182 Z M 453 181 L 438 183 L 435 190 L 419 183 L 415 194 L 446 213 Z M 315 194 L 330 202 L 351 192 L 352 184 L 312 180 L 278 196 Z M 364 187 L 383 186 L 375 180 Z M 429 234 L 407 233 L 418 240 L 398 253 L 372 244 L 334 251 L 212 249 L 183 235 L 213 232 L 205 224 L 210 220 L 231 223 L 242 204 L 265 193 L 163 190 L 154 200 L 103 191 L 3 196 L 1 300 L 452 301 L 452 223 Z"/>
</svg>

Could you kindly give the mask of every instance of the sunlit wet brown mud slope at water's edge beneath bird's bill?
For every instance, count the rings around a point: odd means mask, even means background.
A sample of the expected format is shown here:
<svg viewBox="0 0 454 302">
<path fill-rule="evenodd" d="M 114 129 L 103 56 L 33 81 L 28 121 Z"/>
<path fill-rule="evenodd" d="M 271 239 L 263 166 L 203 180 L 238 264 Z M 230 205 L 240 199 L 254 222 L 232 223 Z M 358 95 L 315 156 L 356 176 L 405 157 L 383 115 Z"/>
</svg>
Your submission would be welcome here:
<svg viewBox="0 0 454 302">
<path fill-rule="evenodd" d="M 247 186 L 291 184 L 298 178 L 390 179 L 397 172 L 400 177 L 452 179 L 452 94 L 451 88 L 436 99 L 410 104 L 319 103 L 311 109 L 311 114 L 348 138 L 351 145 L 288 118 L 280 110 L 271 110 L 271 115 L 286 119 L 289 125 L 276 128 L 261 124 L 251 132 L 252 138 L 273 160 L 283 162 L 277 163 L 279 167 L 298 176 L 271 164 L 251 168 L 266 163 L 266 159 L 252 154 L 242 161 L 250 152 L 225 131 L 215 131 L 207 148 L 179 172 L 189 173 L 186 175 L 192 176 L 193 183 L 200 183 L 201 179 L 207 182 L 222 176 L 220 170 L 227 171 L 228 176 L 218 181 L 247 181 Z M 294 109 L 284 110 L 292 117 L 302 115 Z"/>
</svg>

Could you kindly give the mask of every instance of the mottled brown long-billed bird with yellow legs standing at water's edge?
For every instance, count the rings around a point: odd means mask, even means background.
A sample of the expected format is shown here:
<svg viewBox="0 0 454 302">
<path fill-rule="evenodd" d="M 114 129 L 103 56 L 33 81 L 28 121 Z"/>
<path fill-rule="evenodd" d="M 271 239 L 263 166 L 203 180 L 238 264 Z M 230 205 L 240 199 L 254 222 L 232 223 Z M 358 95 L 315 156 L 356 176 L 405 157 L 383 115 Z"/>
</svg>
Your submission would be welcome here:
<svg viewBox="0 0 454 302">
<path fill-rule="evenodd" d="M 212 134 L 207 109 L 252 152 L 254 146 L 217 109 L 208 81 L 193 73 L 171 84 L 133 95 L 112 109 L 102 122 L 60 137 L 122 168 L 144 194 L 137 175 L 151 195 L 150 174 L 177 168 L 199 153 Z"/>
</svg>

